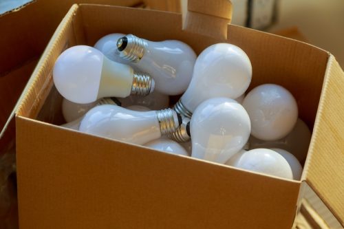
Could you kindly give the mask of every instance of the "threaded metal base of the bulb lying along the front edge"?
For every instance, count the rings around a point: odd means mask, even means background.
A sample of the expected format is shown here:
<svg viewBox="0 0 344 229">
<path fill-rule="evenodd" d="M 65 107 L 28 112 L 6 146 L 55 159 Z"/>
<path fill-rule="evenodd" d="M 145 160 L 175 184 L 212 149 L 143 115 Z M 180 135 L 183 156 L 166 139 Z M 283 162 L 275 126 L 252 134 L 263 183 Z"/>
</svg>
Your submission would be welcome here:
<svg viewBox="0 0 344 229">
<path fill-rule="evenodd" d="M 156 116 L 159 120 L 160 132 L 162 135 L 173 133 L 178 128 L 179 123 L 175 123 L 177 113 L 175 113 L 173 109 L 156 111 Z"/>
</svg>

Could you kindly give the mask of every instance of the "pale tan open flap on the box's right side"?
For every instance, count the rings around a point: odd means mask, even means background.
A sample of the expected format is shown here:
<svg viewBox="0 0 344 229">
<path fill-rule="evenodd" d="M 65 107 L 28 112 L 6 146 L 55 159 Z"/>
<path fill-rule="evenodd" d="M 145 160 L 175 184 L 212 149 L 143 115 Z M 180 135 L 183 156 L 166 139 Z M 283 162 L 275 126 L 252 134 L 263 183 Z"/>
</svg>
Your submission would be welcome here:
<svg viewBox="0 0 344 229">
<path fill-rule="evenodd" d="M 330 55 L 303 179 L 344 226 L 343 85 L 344 72 Z"/>
</svg>

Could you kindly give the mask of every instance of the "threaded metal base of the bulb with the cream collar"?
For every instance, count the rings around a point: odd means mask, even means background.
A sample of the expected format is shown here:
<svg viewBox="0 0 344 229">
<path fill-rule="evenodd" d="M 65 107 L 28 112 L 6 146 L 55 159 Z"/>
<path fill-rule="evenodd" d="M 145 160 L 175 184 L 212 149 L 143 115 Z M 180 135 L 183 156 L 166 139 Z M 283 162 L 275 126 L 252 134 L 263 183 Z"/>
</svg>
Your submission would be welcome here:
<svg viewBox="0 0 344 229">
<path fill-rule="evenodd" d="M 151 93 L 153 84 L 153 78 L 148 74 L 134 72 L 131 95 L 147 96 Z"/>
</svg>

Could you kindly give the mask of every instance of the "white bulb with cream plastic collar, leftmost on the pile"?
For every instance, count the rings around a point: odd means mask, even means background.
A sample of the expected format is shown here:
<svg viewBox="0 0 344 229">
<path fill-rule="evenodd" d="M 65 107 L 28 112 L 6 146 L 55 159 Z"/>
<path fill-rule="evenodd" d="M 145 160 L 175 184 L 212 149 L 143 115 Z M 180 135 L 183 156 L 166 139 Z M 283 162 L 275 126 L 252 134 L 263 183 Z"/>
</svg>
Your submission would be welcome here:
<svg viewBox="0 0 344 229">
<path fill-rule="evenodd" d="M 53 70 L 56 89 L 76 103 L 95 102 L 103 97 L 147 96 L 154 81 L 133 72 L 129 65 L 110 61 L 99 50 L 77 45 L 58 56 Z"/>
</svg>

